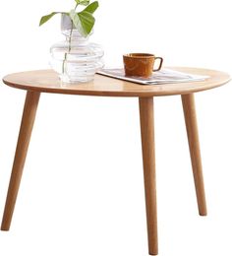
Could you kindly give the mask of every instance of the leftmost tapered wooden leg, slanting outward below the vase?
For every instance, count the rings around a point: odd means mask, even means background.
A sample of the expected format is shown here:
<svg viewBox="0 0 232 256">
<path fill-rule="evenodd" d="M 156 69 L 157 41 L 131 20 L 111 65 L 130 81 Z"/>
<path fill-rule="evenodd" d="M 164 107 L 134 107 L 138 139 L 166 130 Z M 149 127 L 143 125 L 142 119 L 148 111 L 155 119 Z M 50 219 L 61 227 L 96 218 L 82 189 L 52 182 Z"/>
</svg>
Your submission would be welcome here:
<svg viewBox="0 0 232 256">
<path fill-rule="evenodd" d="M 25 108 L 21 122 L 15 160 L 12 168 L 11 180 L 8 188 L 1 230 L 9 230 L 11 225 L 24 164 L 29 148 L 29 139 L 36 114 L 39 95 L 39 93 L 28 92 L 26 96 Z"/>
</svg>

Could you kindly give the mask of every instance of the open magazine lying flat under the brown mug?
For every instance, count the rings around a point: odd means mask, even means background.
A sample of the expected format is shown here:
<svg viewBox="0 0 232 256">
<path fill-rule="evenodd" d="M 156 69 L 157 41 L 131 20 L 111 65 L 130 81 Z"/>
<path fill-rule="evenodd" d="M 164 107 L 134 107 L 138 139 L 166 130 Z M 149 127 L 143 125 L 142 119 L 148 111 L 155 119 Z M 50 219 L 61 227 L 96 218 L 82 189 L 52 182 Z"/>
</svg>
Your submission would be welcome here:
<svg viewBox="0 0 232 256">
<path fill-rule="evenodd" d="M 101 69 L 97 74 L 112 77 L 116 79 L 126 80 L 133 83 L 138 83 L 142 85 L 160 85 L 160 84 L 174 84 L 174 83 L 185 83 L 194 81 L 203 81 L 207 79 L 207 76 L 192 75 L 184 72 L 162 69 L 153 72 L 152 76 L 149 78 L 143 77 L 127 77 L 125 75 L 124 69 Z"/>
</svg>

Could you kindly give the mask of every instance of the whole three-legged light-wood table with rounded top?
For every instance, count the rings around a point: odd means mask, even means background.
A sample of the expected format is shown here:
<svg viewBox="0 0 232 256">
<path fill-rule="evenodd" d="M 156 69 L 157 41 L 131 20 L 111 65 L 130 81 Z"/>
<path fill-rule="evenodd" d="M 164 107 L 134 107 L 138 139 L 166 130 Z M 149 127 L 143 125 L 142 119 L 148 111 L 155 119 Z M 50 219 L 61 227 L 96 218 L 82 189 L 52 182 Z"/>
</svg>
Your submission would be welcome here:
<svg viewBox="0 0 232 256">
<path fill-rule="evenodd" d="M 158 253 L 153 96 L 181 95 L 189 139 L 199 213 L 201 216 L 205 216 L 206 203 L 203 187 L 203 168 L 194 93 L 222 86 L 230 80 L 230 77 L 226 73 L 214 70 L 174 67 L 172 69 L 191 74 L 208 76 L 208 78 L 201 82 L 142 86 L 100 75 L 96 75 L 94 81 L 86 84 L 62 84 L 57 74 L 51 70 L 29 71 L 6 76 L 3 79 L 3 82 L 6 85 L 16 89 L 26 90 L 27 96 L 1 229 L 9 230 L 10 228 L 40 93 L 83 96 L 139 97 L 145 176 L 147 235 L 150 255 L 156 255 Z"/>
</svg>

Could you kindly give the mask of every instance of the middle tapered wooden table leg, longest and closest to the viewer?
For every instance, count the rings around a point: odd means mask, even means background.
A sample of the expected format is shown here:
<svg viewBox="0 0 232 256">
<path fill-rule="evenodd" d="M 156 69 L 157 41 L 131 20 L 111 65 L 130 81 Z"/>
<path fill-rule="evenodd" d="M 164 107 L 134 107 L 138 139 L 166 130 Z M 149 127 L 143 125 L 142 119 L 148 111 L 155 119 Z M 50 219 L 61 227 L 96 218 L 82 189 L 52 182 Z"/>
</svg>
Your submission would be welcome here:
<svg viewBox="0 0 232 256">
<path fill-rule="evenodd" d="M 154 160 L 153 97 L 140 97 L 141 135 L 145 176 L 145 206 L 150 255 L 158 254 Z"/>
</svg>

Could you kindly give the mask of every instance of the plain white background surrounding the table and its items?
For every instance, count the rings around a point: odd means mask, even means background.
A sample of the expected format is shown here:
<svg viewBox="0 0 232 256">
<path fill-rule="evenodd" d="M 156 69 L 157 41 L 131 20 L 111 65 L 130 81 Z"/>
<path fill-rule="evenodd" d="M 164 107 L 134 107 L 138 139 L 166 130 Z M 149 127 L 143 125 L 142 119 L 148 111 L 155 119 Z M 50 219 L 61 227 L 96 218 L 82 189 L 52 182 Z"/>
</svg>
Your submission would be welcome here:
<svg viewBox="0 0 232 256">
<path fill-rule="evenodd" d="M 74 1 L 0 2 L 0 77 L 44 69 Z M 232 69 L 229 0 L 99 0 L 105 63 L 145 51 L 166 66 Z M 0 214 L 26 93 L 0 87 Z M 154 98 L 160 256 L 232 255 L 231 83 L 196 95 L 208 217 L 198 216 L 180 96 Z M 1 256 L 147 255 L 137 98 L 42 95 Z"/>
</svg>

